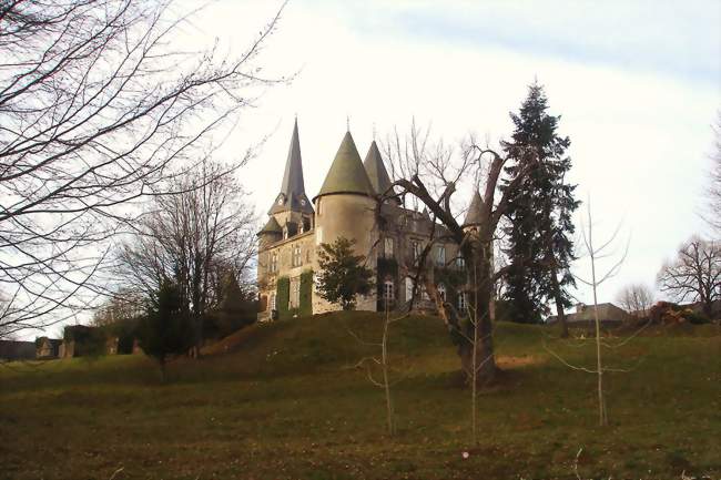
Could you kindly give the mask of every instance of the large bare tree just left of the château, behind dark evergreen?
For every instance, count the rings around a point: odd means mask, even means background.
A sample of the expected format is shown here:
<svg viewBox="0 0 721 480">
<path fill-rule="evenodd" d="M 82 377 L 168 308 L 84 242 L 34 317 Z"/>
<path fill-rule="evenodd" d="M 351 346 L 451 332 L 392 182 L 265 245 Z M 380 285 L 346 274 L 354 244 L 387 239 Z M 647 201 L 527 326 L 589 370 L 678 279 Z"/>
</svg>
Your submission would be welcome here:
<svg viewBox="0 0 721 480">
<path fill-rule="evenodd" d="M 182 193 L 154 197 L 153 208 L 119 253 L 126 292 L 150 297 L 164 279 L 179 285 L 199 343 L 203 315 L 222 300 L 223 278 L 247 278 L 255 255 L 252 207 L 223 171 L 217 163 L 202 162 L 196 172 L 175 178 L 173 190 Z"/>
</svg>

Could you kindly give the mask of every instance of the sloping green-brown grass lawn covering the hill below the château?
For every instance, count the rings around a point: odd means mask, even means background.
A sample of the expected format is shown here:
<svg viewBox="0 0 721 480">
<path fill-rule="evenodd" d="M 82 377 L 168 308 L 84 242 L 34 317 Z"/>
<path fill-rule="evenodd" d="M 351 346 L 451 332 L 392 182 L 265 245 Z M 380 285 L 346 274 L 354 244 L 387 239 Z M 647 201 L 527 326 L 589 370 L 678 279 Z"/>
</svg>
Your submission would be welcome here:
<svg viewBox="0 0 721 480">
<path fill-rule="evenodd" d="M 606 348 L 628 371 L 607 376 L 599 428 L 596 377 L 548 351 L 592 367 L 592 343 L 499 324 L 504 375 L 479 397 L 473 446 L 469 392 L 430 317 L 393 326 L 399 431 L 385 435 L 383 391 L 353 368 L 374 347 L 348 334 L 377 340 L 380 325 L 353 313 L 252 326 L 172 364 L 166 385 L 143 356 L 0 366 L 0 478 L 721 478 L 718 326 Z"/>
</svg>

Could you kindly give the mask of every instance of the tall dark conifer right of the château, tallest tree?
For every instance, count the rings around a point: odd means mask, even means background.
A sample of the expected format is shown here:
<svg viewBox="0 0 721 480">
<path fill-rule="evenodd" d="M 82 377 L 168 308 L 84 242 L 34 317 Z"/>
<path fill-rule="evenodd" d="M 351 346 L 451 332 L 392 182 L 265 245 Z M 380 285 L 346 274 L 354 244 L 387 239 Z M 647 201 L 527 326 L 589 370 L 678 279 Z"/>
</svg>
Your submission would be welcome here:
<svg viewBox="0 0 721 480">
<path fill-rule="evenodd" d="M 557 133 L 560 116 L 547 113 L 544 88 L 534 83 L 518 114 L 510 114 L 516 130 L 504 150 L 514 161 L 506 168 L 508 178 L 529 168 L 526 180 L 510 197 L 507 254 L 510 268 L 505 299 L 515 319 L 538 321 L 556 304 L 567 335 L 563 309 L 571 305 L 568 287 L 576 286 L 570 274 L 573 257 L 572 214 L 580 202 L 573 198 L 576 185 L 566 182 L 571 160 L 566 156 L 568 136 Z"/>
</svg>

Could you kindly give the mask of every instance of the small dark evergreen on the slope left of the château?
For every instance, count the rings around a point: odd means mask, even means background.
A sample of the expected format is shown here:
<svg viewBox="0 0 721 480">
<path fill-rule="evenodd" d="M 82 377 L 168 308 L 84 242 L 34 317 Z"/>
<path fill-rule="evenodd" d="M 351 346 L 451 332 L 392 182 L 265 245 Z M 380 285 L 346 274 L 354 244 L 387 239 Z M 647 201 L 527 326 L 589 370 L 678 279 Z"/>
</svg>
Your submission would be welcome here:
<svg viewBox="0 0 721 480">
<path fill-rule="evenodd" d="M 165 381 L 165 364 L 173 355 L 186 353 L 193 345 L 193 324 L 183 309 L 181 289 L 165 279 L 150 302 L 139 328 L 140 347 L 153 357 L 161 379 Z"/>
</svg>

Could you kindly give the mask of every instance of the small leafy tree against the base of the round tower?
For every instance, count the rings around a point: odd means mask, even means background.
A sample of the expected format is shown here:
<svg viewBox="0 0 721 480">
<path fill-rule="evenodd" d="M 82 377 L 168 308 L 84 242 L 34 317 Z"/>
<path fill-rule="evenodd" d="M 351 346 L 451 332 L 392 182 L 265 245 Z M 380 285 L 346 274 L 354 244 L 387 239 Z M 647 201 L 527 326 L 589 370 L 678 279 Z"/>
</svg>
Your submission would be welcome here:
<svg viewBox="0 0 721 480">
<path fill-rule="evenodd" d="M 355 241 L 338 237 L 332 244 L 321 244 L 318 253 L 318 294 L 344 310 L 353 310 L 358 295 L 373 289 L 373 270 L 364 265 L 364 255 L 354 255 Z"/>
</svg>

